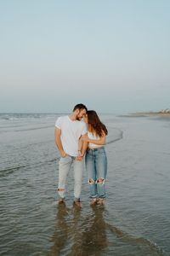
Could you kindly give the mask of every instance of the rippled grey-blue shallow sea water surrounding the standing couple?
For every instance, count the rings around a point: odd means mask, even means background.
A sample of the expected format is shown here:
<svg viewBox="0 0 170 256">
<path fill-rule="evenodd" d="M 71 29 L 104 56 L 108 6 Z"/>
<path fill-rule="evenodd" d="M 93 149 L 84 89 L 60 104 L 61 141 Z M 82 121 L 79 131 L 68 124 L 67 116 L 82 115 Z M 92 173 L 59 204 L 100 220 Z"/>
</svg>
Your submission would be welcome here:
<svg viewBox="0 0 170 256">
<path fill-rule="evenodd" d="M 105 207 L 57 206 L 57 114 L 0 114 L 1 255 L 170 255 L 170 121 L 102 115 Z"/>
</svg>

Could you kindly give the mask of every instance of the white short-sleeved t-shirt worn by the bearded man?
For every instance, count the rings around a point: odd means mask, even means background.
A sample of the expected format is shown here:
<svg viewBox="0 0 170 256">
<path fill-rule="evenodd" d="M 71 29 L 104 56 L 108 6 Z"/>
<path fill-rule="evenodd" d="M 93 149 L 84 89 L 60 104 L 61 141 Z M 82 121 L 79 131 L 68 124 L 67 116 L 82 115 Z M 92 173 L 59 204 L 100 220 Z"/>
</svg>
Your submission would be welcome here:
<svg viewBox="0 0 170 256">
<path fill-rule="evenodd" d="M 56 122 L 55 126 L 61 130 L 61 143 L 66 154 L 77 156 L 78 154 L 78 140 L 87 133 L 87 126 L 84 121 L 74 120 L 70 117 L 61 116 Z"/>
</svg>

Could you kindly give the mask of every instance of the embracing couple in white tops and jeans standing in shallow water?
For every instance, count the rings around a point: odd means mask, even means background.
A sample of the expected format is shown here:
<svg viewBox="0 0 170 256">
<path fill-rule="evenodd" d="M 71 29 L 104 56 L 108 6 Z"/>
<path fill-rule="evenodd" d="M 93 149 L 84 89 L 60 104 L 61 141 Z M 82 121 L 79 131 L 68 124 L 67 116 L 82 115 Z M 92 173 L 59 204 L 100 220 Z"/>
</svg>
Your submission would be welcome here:
<svg viewBox="0 0 170 256">
<path fill-rule="evenodd" d="M 55 123 L 55 143 L 59 149 L 59 204 L 65 202 L 65 185 L 68 172 L 74 169 L 74 205 L 82 207 L 83 158 L 88 172 L 90 204 L 104 204 L 107 158 L 105 137 L 107 129 L 98 114 L 82 103 L 70 115 L 61 116 Z"/>
</svg>

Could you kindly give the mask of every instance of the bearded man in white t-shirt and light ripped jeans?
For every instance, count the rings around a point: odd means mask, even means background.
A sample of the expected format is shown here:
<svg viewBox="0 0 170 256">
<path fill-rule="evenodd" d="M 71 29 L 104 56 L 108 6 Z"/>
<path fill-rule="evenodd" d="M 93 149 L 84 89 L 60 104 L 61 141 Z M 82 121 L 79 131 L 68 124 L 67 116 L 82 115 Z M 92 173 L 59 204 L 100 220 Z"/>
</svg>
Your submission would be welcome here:
<svg viewBox="0 0 170 256">
<path fill-rule="evenodd" d="M 65 201 L 65 184 L 68 172 L 74 168 L 74 204 L 81 207 L 80 194 L 82 190 L 83 161 L 79 139 L 87 133 L 87 126 L 82 121 L 88 109 L 82 103 L 77 104 L 70 115 L 61 116 L 55 123 L 55 143 L 59 148 L 59 203 Z"/>
</svg>

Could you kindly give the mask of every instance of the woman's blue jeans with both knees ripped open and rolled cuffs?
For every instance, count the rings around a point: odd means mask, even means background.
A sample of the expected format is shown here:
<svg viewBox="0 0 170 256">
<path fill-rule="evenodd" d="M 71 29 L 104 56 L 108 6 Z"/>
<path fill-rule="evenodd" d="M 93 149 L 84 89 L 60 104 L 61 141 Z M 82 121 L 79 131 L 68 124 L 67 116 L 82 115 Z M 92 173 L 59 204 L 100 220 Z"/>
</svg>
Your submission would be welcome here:
<svg viewBox="0 0 170 256">
<path fill-rule="evenodd" d="M 105 198 L 105 177 L 107 174 L 107 157 L 105 148 L 88 149 L 86 153 L 86 169 L 90 197 Z"/>
</svg>

